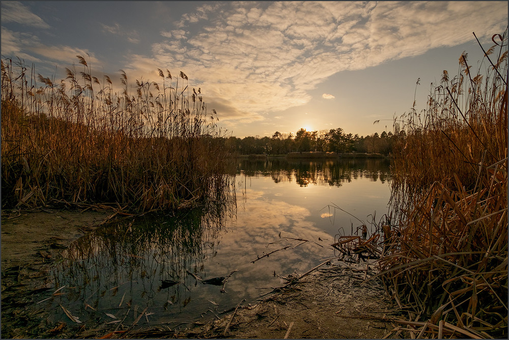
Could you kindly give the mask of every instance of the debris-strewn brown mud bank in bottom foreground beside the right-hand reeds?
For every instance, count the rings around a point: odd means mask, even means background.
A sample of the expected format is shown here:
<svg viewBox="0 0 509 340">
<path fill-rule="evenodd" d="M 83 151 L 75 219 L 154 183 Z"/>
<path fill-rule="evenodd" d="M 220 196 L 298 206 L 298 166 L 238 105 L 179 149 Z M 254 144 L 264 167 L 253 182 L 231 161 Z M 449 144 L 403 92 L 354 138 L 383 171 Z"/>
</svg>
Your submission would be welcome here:
<svg viewBox="0 0 509 340">
<path fill-rule="evenodd" d="M 245 304 L 221 320 L 195 327 L 188 337 L 382 338 L 398 310 L 364 273 L 331 266 L 310 274 L 288 291 Z"/>
</svg>

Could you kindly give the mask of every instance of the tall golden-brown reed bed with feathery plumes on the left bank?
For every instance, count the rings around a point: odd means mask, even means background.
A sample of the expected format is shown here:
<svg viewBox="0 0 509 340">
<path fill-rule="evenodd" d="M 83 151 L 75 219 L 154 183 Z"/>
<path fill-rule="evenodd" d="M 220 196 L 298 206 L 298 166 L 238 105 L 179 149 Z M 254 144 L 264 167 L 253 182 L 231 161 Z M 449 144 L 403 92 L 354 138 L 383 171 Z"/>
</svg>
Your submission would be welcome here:
<svg viewBox="0 0 509 340">
<path fill-rule="evenodd" d="M 56 81 L 2 60 L 2 207 L 114 203 L 126 211 L 193 205 L 225 185 L 215 111 L 187 76 L 122 89 L 81 56 Z M 99 79 L 100 78 L 100 79 Z"/>
</svg>

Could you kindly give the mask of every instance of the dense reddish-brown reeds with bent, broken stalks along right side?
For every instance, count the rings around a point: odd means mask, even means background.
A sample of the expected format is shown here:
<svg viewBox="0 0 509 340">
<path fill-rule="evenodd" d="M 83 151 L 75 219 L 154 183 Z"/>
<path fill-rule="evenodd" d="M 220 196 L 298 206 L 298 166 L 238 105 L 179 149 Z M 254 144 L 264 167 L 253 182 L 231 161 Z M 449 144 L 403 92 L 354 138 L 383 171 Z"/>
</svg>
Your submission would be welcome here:
<svg viewBox="0 0 509 340">
<path fill-rule="evenodd" d="M 500 37 L 485 55 L 493 66 L 474 76 L 463 53 L 458 76 L 444 71 L 423 115 L 411 111 L 395 131 L 393 225 L 378 276 L 401 308 L 429 318 L 419 336 L 507 337 L 507 84 L 499 76 L 507 32 Z"/>
</svg>

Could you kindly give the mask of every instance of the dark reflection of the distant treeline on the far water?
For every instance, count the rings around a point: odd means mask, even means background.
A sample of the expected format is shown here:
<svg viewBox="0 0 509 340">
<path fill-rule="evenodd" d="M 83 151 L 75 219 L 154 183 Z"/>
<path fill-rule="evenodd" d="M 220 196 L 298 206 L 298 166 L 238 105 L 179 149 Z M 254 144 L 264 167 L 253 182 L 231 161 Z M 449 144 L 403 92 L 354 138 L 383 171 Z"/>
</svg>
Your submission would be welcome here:
<svg viewBox="0 0 509 340">
<path fill-rule="evenodd" d="M 341 186 L 358 178 L 385 183 L 390 180 L 390 162 L 387 159 L 267 159 L 240 160 L 237 174 L 271 177 L 275 183 L 295 182 L 299 186 Z"/>
</svg>

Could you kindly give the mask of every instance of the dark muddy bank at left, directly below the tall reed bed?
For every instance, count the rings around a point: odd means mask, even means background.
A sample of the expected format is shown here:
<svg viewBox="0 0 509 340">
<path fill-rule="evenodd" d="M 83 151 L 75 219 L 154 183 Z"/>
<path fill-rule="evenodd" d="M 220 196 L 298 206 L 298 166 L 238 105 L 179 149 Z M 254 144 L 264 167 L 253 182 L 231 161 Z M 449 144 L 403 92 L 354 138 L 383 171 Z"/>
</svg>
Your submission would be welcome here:
<svg viewBox="0 0 509 340">
<path fill-rule="evenodd" d="M 2 210 L 3 338 L 74 337 L 65 322 L 49 321 L 50 313 L 39 307 L 34 294 L 54 289 L 48 270 L 59 252 L 109 217 L 110 211 L 99 209 Z M 25 305 L 32 308 L 20 308 Z"/>
</svg>

